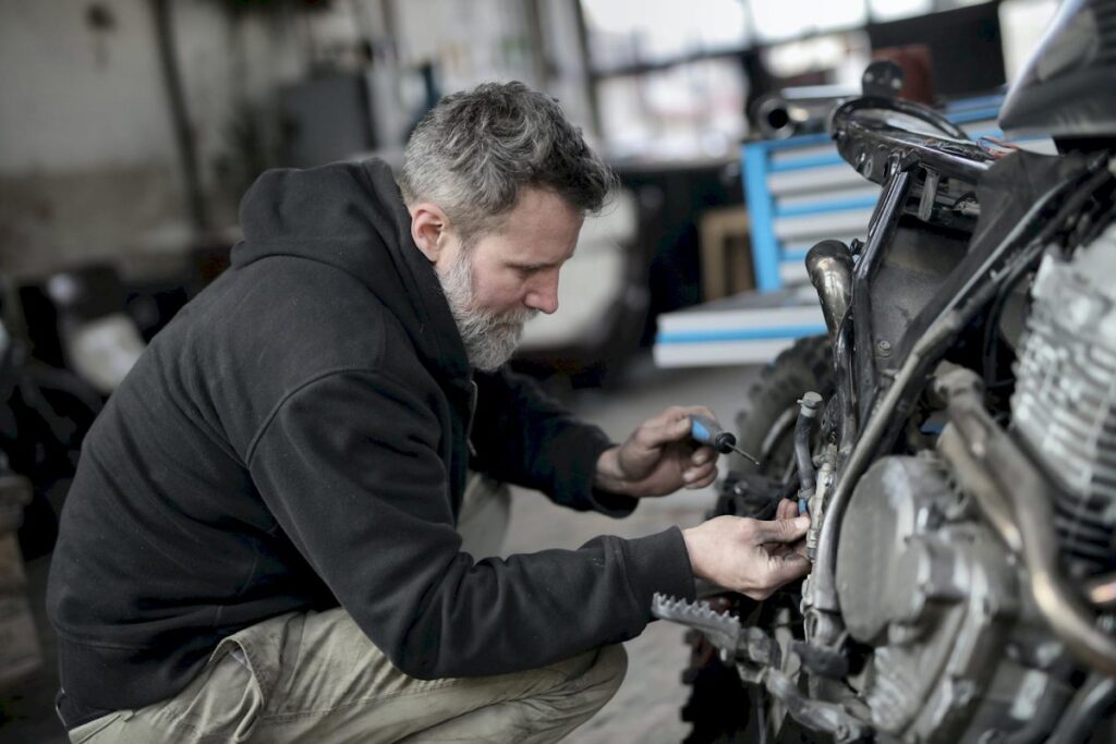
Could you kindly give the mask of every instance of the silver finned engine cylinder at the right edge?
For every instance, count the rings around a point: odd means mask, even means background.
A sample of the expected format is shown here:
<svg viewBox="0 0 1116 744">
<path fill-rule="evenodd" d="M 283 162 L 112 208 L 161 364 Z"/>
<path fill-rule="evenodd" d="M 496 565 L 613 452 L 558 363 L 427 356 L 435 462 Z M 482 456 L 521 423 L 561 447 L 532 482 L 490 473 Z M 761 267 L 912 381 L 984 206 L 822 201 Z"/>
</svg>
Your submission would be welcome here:
<svg viewBox="0 0 1116 744">
<path fill-rule="evenodd" d="M 1047 255 L 1032 289 L 1012 418 L 1060 486 L 1056 525 L 1079 574 L 1116 566 L 1116 225 L 1071 261 Z"/>
</svg>

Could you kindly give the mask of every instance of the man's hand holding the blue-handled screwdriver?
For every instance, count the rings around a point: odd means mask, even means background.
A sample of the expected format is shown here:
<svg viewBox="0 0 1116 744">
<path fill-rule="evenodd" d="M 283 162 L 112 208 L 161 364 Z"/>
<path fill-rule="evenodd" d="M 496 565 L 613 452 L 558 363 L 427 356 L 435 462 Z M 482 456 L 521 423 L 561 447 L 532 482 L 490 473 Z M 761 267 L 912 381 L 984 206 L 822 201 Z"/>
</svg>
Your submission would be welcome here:
<svg viewBox="0 0 1116 744">
<path fill-rule="evenodd" d="M 713 417 L 704 406 L 672 407 L 639 425 L 597 460 L 594 485 L 629 496 L 662 496 L 682 486 L 702 489 L 716 479 L 716 452 L 690 438 L 690 416 Z"/>
</svg>

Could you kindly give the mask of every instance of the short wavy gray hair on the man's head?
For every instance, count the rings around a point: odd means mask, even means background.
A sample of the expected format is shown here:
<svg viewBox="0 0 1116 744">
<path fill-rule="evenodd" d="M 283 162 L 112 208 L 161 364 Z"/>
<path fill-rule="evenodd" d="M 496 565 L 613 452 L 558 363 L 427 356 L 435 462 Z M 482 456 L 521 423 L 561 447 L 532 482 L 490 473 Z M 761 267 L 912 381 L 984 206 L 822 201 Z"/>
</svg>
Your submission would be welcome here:
<svg viewBox="0 0 1116 744">
<path fill-rule="evenodd" d="M 599 212 L 617 183 L 558 102 L 522 83 L 442 98 L 412 132 L 397 181 L 408 205 L 441 206 L 466 245 L 498 230 L 525 187 L 584 214 Z"/>
</svg>

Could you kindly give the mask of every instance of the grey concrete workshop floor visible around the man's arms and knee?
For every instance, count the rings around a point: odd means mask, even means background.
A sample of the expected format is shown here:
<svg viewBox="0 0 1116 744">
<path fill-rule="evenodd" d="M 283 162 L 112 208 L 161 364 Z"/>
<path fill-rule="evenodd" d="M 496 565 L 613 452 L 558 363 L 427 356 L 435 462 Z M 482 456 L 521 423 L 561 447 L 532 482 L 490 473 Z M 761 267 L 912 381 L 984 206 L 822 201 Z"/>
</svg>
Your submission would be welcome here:
<svg viewBox="0 0 1116 744">
<path fill-rule="evenodd" d="M 583 418 L 622 441 L 645 418 L 670 405 L 708 405 L 727 427 L 733 425 L 740 398 L 757 368 L 655 369 L 650 360 L 637 360 L 617 390 L 578 390 L 570 407 Z M 691 526 L 714 500 L 713 490 L 686 491 L 648 500 L 634 514 L 613 520 L 552 505 L 539 493 L 513 491 L 512 518 L 506 552 L 547 548 L 577 548 L 598 534 L 634 538 L 671 525 Z M 31 598 L 46 654 L 44 669 L 19 687 L 17 697 L 0 698 L 0 744 L 62 744 L 65 733 L 54 716 L 52 696 L 56 648 L 42 612 L 48 561 L 28 566 Z M 638 638 L 628 641 L 628 675 L 613 700 L 566 741 L 574 744 L 648 744 L 680 742 L 687 724 L 679 718 L 686 698 L 680 675 L 687 650 L 682 628 L 652 622 Z"/>
</svg>

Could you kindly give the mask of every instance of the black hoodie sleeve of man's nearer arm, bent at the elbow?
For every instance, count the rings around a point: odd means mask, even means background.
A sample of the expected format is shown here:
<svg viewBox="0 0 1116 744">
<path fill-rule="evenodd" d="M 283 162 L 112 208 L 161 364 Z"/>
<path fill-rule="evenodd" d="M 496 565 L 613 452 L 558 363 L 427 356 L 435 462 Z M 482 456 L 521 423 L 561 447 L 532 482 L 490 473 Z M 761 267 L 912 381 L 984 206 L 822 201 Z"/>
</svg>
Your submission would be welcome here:
<svg viewBox="0 0 1116 744">
<path fill-rule="evenodd" d="M 638 635 L 655 591 L 693 596 L 676 528 L 474 562 L 453 529 L 441 436 L 407 386 L 336 373 L 288 396 L 249 455 L 282 530 L 406 674 L 538 667 Z"/>
</svg>

